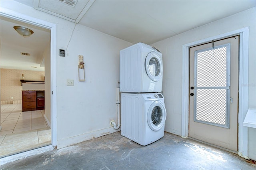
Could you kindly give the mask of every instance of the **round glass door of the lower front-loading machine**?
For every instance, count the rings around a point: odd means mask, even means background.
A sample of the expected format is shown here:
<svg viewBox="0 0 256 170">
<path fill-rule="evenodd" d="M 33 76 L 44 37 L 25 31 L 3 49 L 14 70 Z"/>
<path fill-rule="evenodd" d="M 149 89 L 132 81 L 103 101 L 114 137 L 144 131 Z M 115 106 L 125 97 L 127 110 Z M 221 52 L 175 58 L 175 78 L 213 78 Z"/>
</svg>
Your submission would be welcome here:
<svg viewBox="0 0 256 170">
<path fill-rule="evenodd" d="M 160 130 L 166 120 L 166 109 L 161 102 L 155 101 L 148 109 L 148 126 L 154 130 Z"/>
</svg>

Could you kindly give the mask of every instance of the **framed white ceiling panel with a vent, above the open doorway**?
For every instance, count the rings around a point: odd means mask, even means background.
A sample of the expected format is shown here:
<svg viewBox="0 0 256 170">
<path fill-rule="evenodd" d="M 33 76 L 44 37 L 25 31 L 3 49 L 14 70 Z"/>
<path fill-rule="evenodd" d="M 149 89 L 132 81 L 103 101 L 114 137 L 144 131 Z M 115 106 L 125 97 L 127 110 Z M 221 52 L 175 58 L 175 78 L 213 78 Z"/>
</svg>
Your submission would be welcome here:
<svg viewBox="0 0 256 170">
<path fill-rule="evenodd" d="M 95 0 L 34 0 L 34 8 L 79 23 Z"/>
</svg>

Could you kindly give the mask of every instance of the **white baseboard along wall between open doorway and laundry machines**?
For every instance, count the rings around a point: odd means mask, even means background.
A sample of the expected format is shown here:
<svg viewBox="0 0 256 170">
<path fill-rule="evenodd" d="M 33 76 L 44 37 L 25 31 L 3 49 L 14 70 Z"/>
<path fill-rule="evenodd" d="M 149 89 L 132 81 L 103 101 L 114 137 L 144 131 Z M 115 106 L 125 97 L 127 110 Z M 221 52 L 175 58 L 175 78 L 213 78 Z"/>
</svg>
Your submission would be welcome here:
<svg viewBox="0 0 256 170">
<path fill-rule="evenodd" d="M 67 147 L 67 146 L 71 146 L 73 144 L 84 142 L 86 140 L 90 140 L 90 139 L 93 139 L 93 138 L 98 138 L 98 137 L 104 136 L 106 134 L 111 134 L 111 133 L 114 133 L 114 132 L 118 132 L 120 130 L 121 130 L 121 128 L 119 128 L 118 130 L 115 130 L 113 127 L 110 127 L 110 128 L 105 128 L 105 129 L 101 129 L 101 130 L 96 130 L 94 132 L 88 132 L 88 133 L 80 134 L 78 136 L 72 136 L 70 138 L 60 139 L 60 140 L 57 141 L 57 149 L 64 148 L 64 147 Z"/>
</svg>

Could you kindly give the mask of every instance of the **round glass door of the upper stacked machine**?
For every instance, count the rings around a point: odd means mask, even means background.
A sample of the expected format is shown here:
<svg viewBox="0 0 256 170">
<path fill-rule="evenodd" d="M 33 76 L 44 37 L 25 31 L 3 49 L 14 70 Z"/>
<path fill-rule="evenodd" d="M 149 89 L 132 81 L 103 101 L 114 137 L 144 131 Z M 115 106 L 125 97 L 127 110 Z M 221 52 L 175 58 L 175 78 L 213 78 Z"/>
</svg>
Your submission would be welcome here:
<svg viewBox="0 0 256 170">
<path fill-rule="evenodd" d="M 152 81 L 159 81 L 162 77 L 162 60 L 156 52 L 150 52 L 146 56 L 145 69 Z"/>
</svg>

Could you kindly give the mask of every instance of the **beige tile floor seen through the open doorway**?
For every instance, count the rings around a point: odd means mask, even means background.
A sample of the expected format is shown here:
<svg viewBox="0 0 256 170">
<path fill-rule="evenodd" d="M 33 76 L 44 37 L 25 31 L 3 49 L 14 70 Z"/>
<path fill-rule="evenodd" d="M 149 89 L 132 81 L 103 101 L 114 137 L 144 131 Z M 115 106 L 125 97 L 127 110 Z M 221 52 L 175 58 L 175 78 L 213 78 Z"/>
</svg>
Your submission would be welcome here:
<svg viewBox="0 0 256 170">
<path fill-rule="evenodd" d="M 0 157 L 51 144 L 44 110 L 22 112 L 22 104 L 1 105 Z"/>
</svg>

